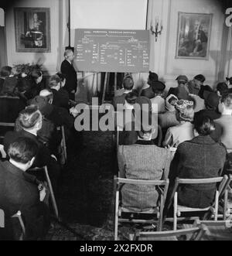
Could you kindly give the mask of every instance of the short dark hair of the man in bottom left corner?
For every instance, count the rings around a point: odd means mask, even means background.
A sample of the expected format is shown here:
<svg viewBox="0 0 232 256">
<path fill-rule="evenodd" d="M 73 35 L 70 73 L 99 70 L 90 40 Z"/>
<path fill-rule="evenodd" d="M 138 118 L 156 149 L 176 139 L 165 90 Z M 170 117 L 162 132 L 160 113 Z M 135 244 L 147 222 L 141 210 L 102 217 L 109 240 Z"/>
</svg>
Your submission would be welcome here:
<svg viewBox="0 0 232 256">
<path fill-rule="evenodd" d="M 38 145 L 31 138 L 19 137 L 9 145 L 8 155 L 15 162 L 26 164 L 38 152 Z"/>
</svg>

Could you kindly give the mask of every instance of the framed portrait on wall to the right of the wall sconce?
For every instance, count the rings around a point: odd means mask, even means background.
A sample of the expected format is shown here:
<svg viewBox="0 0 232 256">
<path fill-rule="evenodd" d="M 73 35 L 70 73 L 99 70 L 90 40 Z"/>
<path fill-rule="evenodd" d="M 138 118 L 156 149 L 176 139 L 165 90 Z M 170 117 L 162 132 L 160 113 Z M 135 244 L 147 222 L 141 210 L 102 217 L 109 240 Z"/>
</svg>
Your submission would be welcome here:
<svg viewBox="0 0 232 256">
<path fill-rule="evenodd" d="M 179 12 L 176 58 L 209 59 L 212 16 Z"/>
</svg>

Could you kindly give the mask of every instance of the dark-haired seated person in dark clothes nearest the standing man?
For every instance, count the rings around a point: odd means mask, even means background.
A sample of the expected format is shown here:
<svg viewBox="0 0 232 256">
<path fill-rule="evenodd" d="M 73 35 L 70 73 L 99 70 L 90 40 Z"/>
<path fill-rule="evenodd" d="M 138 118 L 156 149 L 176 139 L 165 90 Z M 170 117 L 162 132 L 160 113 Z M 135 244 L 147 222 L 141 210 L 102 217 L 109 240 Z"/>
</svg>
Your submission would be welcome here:
<svg viewBox="0 0 232 256">
<path fill-rule="evenodd" d="M 49 89 L 53 92 L 53 105 L 56 107 L 69 108 L 69 93 L 63 89 L 66 78 L 62 73 L 57 73 L 49 78 Z"/>
</svg>

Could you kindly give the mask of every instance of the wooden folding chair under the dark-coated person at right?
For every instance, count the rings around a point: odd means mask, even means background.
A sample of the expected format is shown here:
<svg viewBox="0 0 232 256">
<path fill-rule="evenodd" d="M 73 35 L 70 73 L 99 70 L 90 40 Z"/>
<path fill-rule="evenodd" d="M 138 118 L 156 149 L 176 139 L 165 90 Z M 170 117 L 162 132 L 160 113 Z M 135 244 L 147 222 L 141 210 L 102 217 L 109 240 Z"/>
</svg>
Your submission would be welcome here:
<svg viewBox="0 0 232 256">
<path fill-rule="evenodd" d="M 227 176 L 223 177 L 217 177 L 217 178 L 208 178 L 208 179 L 179 179 L 176 178 L 176 183 L 173 189 L 174 193 L 174 203 L 173 203 L 173 230 L 176 230 L 177 228 L 177 217 L 180 217 L 181 213 L 186 212 L 200 212 L 205 211 L 208 212 L 211 210 L 211 212 L 214 213 L 214 220 L 217 220 L 218 217 L 218 204 L 219 204 L 219 197 L 224 191 L 224 187 L 227 184 Z M 220 183 L 220 186 L 218 189 L 216 189 L 215 193 L 215 200 L 212 206 L 206 207 L 206 208 L 192 208 L 192 207 L 184 207 L 178 204 L 178 193 L 177 189 L 180 184 L 209 184 L 209 183 Z M 188 218 L 190 220 L 196 220 L 196 217 L 190 217 Z"/>
</svg>

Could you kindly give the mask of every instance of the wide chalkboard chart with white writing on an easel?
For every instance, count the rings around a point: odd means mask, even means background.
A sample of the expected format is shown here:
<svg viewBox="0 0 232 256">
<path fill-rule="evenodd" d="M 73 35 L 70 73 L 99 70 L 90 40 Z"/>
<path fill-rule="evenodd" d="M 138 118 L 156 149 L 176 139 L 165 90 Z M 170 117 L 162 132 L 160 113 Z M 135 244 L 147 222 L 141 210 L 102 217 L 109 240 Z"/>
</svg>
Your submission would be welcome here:
<svg viewBox="0 0 232 256">
<path fill-rule="evenodd" d="M 148 30 L 75 30 L 74 62 L 79 71 L 148 72 Z"/>
</svg>

